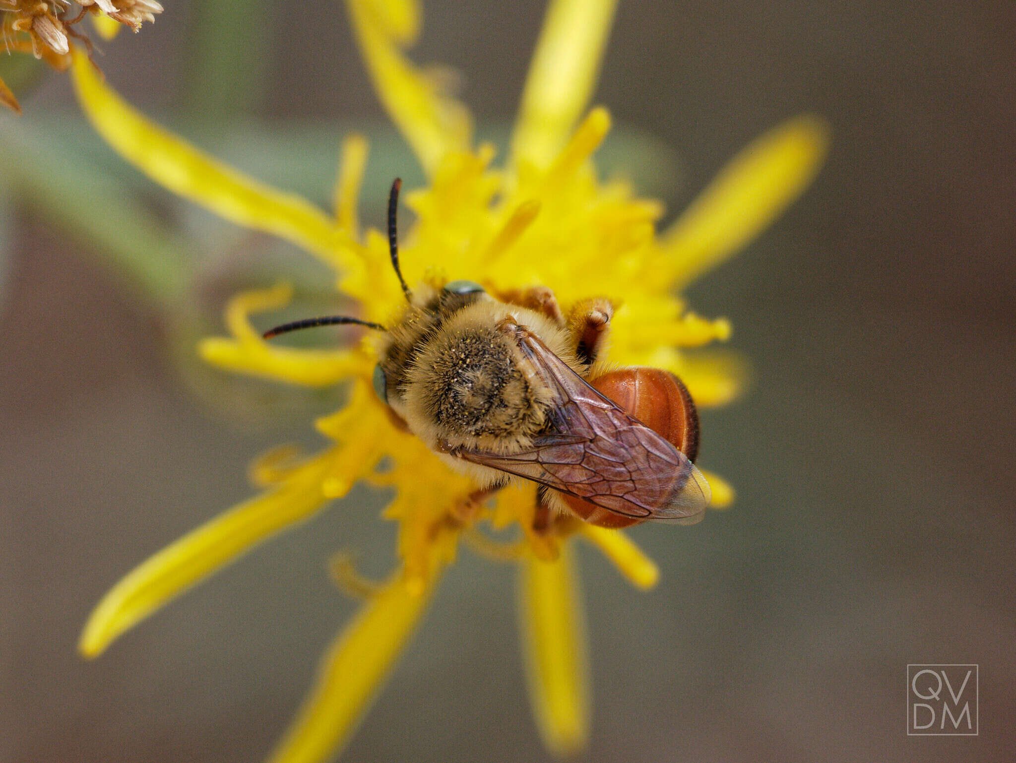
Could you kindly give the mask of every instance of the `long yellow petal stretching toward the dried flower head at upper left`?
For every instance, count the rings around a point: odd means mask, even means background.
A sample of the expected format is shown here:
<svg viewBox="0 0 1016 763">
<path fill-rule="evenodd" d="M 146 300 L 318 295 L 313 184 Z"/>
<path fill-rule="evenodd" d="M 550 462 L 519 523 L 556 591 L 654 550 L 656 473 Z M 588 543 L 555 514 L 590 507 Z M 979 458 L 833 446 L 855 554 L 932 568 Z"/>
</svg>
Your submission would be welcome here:
<svg viewBox="0 0 1016 763">
<path fill-rule="evenodd" d="M 78 49 L 72 73 L 78 101 L 96 130 L 160 185 L 232 222 L 293 242 L 333 267 L 362 265 L 348 234 L 321 209 L 212 158 L 149 121 L 103 81 Z"/>
</svg>

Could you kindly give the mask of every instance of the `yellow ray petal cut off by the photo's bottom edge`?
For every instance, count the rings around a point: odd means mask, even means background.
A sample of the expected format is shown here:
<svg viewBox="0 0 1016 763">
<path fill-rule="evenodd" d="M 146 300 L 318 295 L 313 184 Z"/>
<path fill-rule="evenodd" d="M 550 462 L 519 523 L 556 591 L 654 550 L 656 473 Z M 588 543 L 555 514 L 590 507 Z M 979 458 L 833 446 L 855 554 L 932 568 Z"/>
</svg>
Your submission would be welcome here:
<svg viewBox="0 0 1016 763">
<path fill-rule="evenodd" d="M 334 757 L 370 707 L 427 609 L 437 576 L 410 593 L 395 574 L 329 647 L 317 682 L 268 763 L 322 763 Z"/>
</svg>

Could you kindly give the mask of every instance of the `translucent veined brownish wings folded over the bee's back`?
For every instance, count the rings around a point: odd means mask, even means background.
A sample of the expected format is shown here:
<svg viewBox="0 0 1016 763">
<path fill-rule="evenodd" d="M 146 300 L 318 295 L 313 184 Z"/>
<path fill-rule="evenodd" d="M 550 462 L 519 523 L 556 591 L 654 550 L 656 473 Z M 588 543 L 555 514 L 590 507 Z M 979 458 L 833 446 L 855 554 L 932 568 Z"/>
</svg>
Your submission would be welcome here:
<svg viewBox="0 0 1016 763">
<path fill-rule="evenodd" d="M 569 493 L 617 514 L 691 523 L 701 518 L 709 484 L 684 453 L 605 397 L 538 337 L 514 335 L 532 371 L 555 393 L 555 432 L 518 453 L 456 450 L 473 463 Z"/>
</svg>

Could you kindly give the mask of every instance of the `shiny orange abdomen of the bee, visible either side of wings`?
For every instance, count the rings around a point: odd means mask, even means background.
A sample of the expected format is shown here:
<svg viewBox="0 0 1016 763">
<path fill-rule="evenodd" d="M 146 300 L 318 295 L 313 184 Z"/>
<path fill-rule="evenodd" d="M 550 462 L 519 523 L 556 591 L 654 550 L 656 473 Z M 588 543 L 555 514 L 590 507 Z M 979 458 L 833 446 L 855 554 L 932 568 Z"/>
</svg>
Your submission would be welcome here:
<svg viewBox="0 0 1016 763">
<path fill-rule="evenodd" d="M 626 368 L 589 380 L 600 394 L 610 397 L 631 417 L 662 435 L 690 461 L 698 455 L 698 412 L 682 381 L 658 368 Z M 575 514 L 600 527 L 628 527 L 644 521 L 616 514 L 575 496 L 562 495 Z"/>
</svg>

